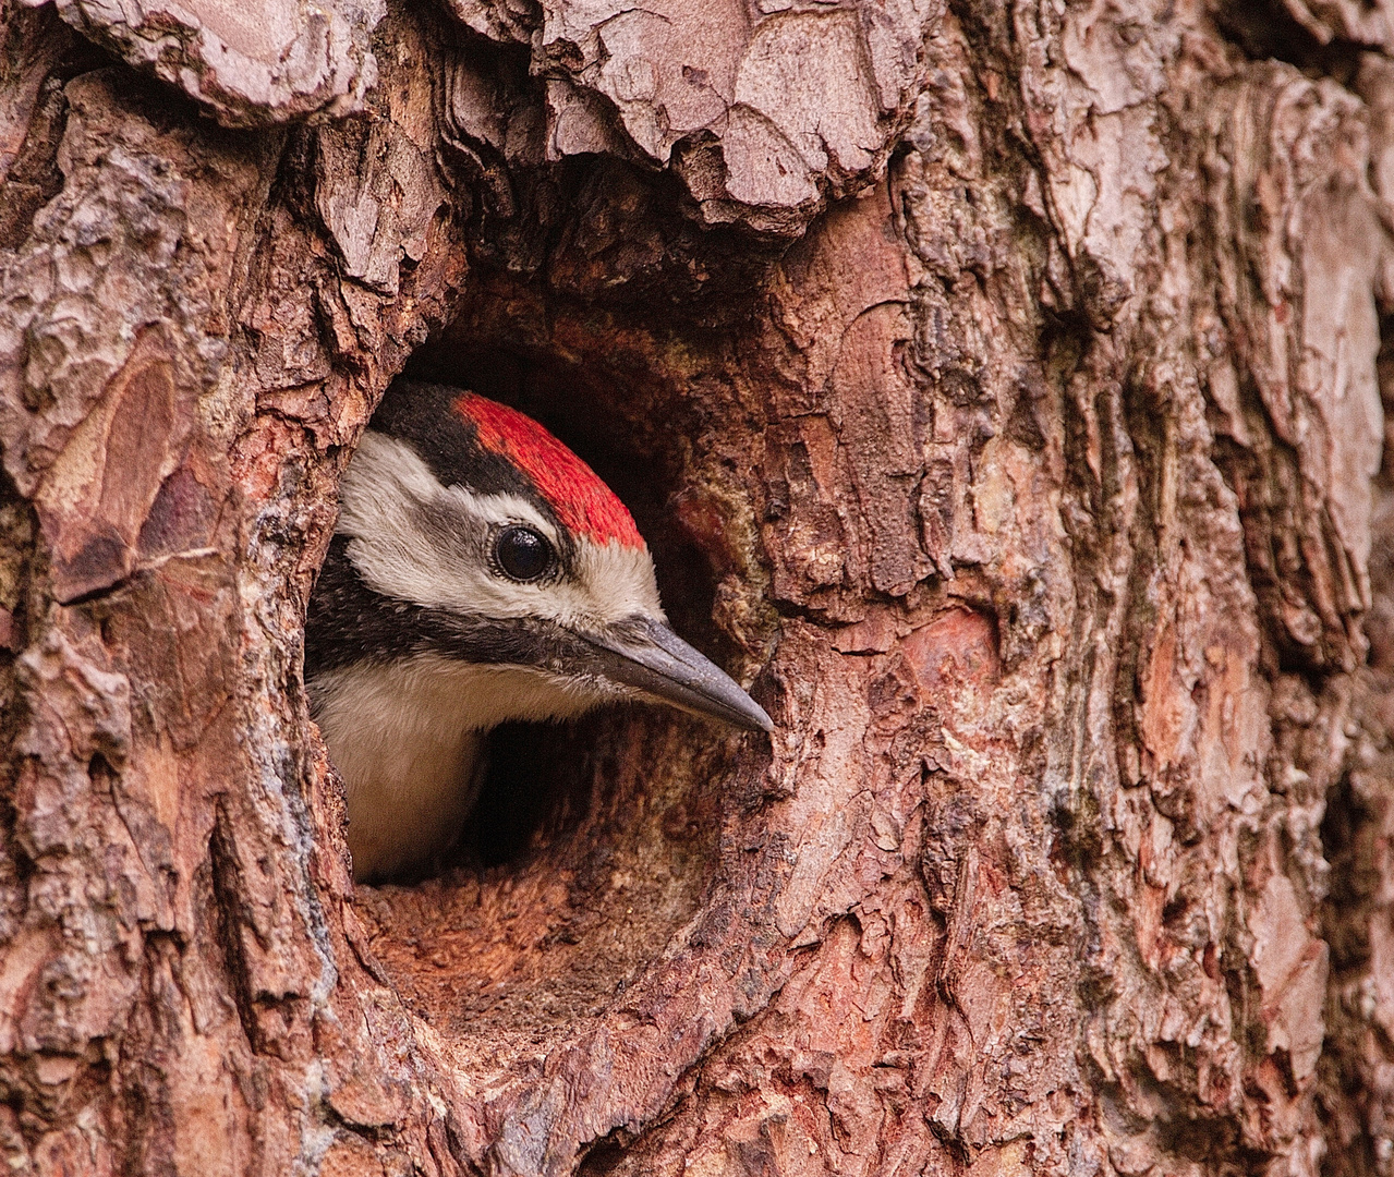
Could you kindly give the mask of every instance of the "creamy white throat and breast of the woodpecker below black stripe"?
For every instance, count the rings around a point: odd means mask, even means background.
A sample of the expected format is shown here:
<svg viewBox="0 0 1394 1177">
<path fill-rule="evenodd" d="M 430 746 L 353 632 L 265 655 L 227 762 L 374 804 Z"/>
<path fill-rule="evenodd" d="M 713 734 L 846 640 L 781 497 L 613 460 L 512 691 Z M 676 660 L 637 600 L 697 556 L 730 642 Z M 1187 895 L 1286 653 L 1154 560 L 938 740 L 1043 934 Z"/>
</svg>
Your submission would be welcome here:
<svg viewBox="0 0 1394 1177">
<path fill-rule="evenodd" d="M 606 696 L 526 667 L 421 654 L 316 675 L 311 706 L 348 792 L 357 881 L 429 866 L 480 792 L 484 735 L 509 720 L 563 720 Z"/>
</svg>

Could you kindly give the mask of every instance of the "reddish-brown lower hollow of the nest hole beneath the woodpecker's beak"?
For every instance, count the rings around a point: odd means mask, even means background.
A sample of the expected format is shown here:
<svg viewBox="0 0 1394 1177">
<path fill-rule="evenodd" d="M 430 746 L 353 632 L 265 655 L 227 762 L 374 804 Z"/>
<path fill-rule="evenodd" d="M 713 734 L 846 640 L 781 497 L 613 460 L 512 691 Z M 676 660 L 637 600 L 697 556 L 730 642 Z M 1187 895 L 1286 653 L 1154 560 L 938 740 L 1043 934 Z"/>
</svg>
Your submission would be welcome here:
<svg viewBox="0 0 1394 1177">
<path fill-rule="evenodd" d="M 357 888 L 378 962 L 463 1064 L 604 1014 L 701 906 L 729 754 L 645 710 L 495 729 L 453 860 Z"/>
</svg>

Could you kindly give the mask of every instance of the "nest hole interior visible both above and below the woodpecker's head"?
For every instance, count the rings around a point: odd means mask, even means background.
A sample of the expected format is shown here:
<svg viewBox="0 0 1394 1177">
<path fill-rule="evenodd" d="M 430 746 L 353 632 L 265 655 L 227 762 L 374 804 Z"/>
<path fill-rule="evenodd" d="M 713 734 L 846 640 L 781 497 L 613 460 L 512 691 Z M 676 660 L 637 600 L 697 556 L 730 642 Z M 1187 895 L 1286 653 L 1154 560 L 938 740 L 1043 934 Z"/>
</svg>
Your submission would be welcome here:
<svg viewBox="0 0 1394 1177">
<path fill-rule="evenodd" d="M 500 400 L 556 434 L 634 515 L 673 628 L 733 664 L 711 621 L 712 562 L 672 510 L 679 409 L 542 353 L 459 340 L 428 344 L 406 375 Z M 701 906 L 739 747 L 732 729 L 657 703 L 495 728 L 480 798 L 438 870 L 358 886 L 374 955 L 481 1068 L 510 1042 L 535 1049 L 604 1012 Z"/>
</svg>

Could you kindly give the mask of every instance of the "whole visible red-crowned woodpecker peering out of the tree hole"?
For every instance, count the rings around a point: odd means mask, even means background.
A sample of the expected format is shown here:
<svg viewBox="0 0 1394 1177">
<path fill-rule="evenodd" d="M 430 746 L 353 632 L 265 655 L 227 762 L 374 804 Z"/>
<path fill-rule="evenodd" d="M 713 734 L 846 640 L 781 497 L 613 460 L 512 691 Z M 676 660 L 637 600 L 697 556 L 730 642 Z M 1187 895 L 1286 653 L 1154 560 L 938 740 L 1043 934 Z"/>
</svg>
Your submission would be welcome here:
<svg viewBox="0 0 1394 1177">
<path fill-rule="evenodd" d="M 449 849 L 505 721 L 647 699 L 774 728 L 668 626 L 648 547 L 580 457 L 514 409 L 401 381 L 344 470 L 305 688 L 358 881 Z"/>
</svg>

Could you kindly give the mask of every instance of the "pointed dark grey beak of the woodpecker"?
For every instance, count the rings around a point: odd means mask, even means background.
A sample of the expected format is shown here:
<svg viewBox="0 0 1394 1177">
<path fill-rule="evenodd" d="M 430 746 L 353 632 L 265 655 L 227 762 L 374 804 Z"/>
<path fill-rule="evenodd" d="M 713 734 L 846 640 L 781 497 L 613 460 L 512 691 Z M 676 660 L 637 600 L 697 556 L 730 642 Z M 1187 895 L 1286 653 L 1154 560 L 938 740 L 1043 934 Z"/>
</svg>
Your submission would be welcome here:
<svg viewBox="0 0 1394 1177">
<path fill-rule="evenodd" d="M 662 622 L 636 616 L 584 637 L 601 651 L 602 672 L 613 682 L 740 728 L 775 729 L 765 708 L 735 679 Z"/>
</svg>

